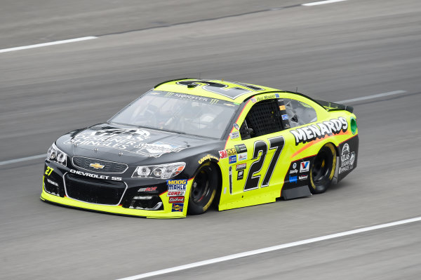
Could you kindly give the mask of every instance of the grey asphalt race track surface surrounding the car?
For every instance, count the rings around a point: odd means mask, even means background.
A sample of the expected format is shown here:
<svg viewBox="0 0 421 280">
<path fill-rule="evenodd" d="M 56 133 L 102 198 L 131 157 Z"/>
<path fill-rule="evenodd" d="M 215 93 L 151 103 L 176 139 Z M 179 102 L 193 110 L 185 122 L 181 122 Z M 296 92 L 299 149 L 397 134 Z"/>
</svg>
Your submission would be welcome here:
<svg viewBox="0 0 421 280">
<path fill-rule="evenodd" d="M 42 202 L 44 159 L 1 164 L 0 279 L 120 279 L 421 216 L 421 1 L 36 2 L 0 9 L 1 162 L 44 154 L 168 79 L 330 101 L 399 94 L 347 103 L 358 168 L 305 199 L 128 218 Z M 83 36 L 98 38 L 1 53 Z M 151 279 L 420 279 L 420 232 L 413 222 Z"/>
</svg>

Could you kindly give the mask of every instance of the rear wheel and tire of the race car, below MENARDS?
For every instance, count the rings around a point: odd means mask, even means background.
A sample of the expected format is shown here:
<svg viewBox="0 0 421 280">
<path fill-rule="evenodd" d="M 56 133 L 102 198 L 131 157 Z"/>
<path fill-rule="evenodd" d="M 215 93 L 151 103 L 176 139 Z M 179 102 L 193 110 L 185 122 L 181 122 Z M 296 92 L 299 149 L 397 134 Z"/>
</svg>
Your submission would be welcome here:
<svg viewBox="0 0 421 280">
<path fill-rule="evenodd" d="M 321 194 L 332 184 L 336 168 L 336 149 L 332 143 L 324 145 L 314 158 L 310 170 L 310 192 Z"/>
</svg>

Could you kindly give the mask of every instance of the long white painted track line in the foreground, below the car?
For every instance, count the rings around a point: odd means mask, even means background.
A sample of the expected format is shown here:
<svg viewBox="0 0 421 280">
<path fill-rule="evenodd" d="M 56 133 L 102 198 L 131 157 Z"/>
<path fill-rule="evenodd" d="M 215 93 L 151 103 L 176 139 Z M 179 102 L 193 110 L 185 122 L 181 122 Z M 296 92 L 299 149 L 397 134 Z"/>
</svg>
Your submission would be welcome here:
<svg viewBox="0 0 421 280">
<path fill-rule="evenodd" d="M 349 230 L 347 232 L 340 232 L 340 233 L 337 233 L 337 234 L 328 234 L 328 235 L 325 235 L 325 236 L 320 236 L 320 237 L 311 238 L 311 239 L 305 239 L 305 240 L 302 240 L 302 241 L 296 241 L 296 242 L 291 242 L 291 243 L 287 243 L 287 244 L 281 244 L 281 245 L 278 245 L 278 246 L 262 248 L 262 249 L 238 253 L 238 254 L 234 254 L 234 255 L 227 255 L 227 256 L 221 257 L 221 258 L 203 260 L 201 262 L 193 262 L 189 265 L 180 265 L 179 267 L 171 267 L 171 268 L 167 268 L 167 269 L 161 269 L 161 270 L 157 270 L 155 272 L 147 272 L 147 273 L 144 273 L 144 274 L 138 274 L 138 275 L 135 275 L 135 276 L 121 278 L 121 279 L 118 279 L 118 280 L 143 279 L 143 278 L 147 278 L 147 277 L 150 277 L 150 276 L 162 275 L 162 274 L 167 274 L 167 273 L 171 273 L 171 272 L 178 272 L 180 270 L 190 269 L 190 268 L 194 268 L 194 267 L 201 267 L 203 265 L 211 265 L 211 264 L 216 263 L 216 262 L 225 262 L 227 260 L 234 260 L 234 259 L 238 259 L 238 258 L 248 257 L 250 255 L 257 255 L 257 254 L 261 254 L 261 253 L 267 253 L 267 252 L 281 250 L 281 249 L 284 249 L 284 248 L 290 248 L 290 247 L 294 247 L 294 246 L 310 244 L 310 243 L 319 242 L 319 241 L 323 241 L 323 240 L 334 239 L 334 238 L 338 238 L 338 237 L 342 237 L 342 236 L 359 234 L 361 232 L 370 232 L 371 230 L 375 230 L 375 229 L 384 229 L 385 227 L 394 227 L 396 225 L 404 225 L 404 224 L 408 224 L 410 222 L 420 222 L 420 221 L 421 221 L 421 217 L 407 219 L 407 220 L 400 220 L 400 221 L 397 221 L 397 222 L 388 222 L 387 224 L 374 225 L 372 227 L 363 227 L 361 229 Z"/>
</svg>

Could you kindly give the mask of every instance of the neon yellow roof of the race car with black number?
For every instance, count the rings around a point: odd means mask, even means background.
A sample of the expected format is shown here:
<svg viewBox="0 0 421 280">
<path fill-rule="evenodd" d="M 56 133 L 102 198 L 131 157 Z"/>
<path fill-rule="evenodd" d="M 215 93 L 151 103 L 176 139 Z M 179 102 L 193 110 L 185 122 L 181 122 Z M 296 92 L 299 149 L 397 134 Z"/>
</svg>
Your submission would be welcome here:
<svg viewBox="0 0 421 280">
<path fill-rule="evenodd" d="M 244 100 L 260 93 L 288 92 L 281 91 L 276 88 L 269 88 L 267 86 L 245 84 L 236 81 L 232 82 L 196 78 L 164 81 L 163 83 L 154 86 L 154 90 L 200 95 L 208 98 L 217 98 L 237 103 L 241 103 Z"/>
</svg>

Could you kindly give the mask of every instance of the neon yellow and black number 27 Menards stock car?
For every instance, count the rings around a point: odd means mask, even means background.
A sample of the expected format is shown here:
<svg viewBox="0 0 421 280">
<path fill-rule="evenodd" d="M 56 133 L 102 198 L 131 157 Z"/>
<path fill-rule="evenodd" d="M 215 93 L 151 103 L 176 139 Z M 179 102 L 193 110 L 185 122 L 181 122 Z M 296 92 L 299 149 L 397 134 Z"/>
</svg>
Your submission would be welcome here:
<svg viewBox="0 0 421 280">
<path fill-rule="evenodd" d="M 105 124 L 48 149 L 41 199 L 182 218 L 325 192 L 354 168 L 352 107 L 205 79 L 158 84 Z"/>
</svg>

